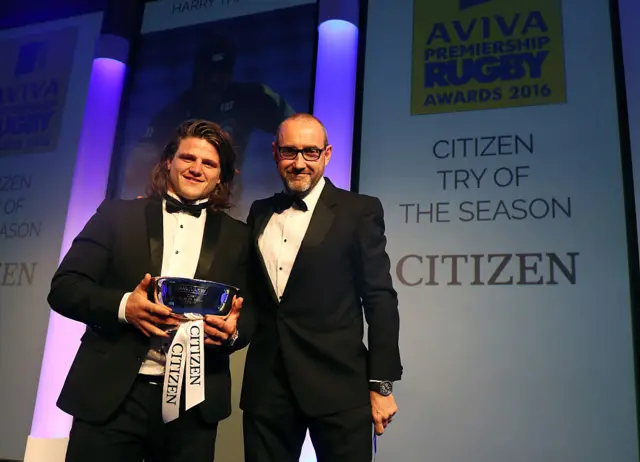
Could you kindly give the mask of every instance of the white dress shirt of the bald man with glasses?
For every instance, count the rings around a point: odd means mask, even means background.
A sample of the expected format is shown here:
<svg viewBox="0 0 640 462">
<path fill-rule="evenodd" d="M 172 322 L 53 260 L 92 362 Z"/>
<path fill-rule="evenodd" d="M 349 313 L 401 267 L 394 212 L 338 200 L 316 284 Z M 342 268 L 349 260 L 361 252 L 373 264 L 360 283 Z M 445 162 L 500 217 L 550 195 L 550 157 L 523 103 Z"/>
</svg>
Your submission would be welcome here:
<svg viewBox="0 0 640 462">
<path fill-rule="evenodd" d="M 320 178 L 320 181 L 304 197 L 307 211 L 290 207 L 282 213 L 274 213 L 258 238 L 258 247 L 278 298 L 282 297 L 287 286 L 291 268 L 309 228 L 313 210 L 316 208 L 324 184 L 324 178 Z"/>
</svg>

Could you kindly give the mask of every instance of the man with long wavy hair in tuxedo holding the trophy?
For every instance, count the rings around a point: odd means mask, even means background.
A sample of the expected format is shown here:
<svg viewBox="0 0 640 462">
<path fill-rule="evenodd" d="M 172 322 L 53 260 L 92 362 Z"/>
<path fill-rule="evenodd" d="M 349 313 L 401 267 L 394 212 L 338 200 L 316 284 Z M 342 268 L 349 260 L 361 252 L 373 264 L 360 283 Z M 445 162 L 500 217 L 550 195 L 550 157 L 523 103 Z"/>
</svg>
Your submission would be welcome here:
<svg viewBox="0 0 640 462">
<path fill-rule="evenodd" d="M 218 422 L 231 412 L 229 354 L 247 343 L 238 320 L 243 302 L 245 313 L 250 306 L 248 227 L 224 213 L 235 158 L 219 125 L 181 124 L 153 169 L 148 197 L 103 202 L 55 273 L 51 307 L 87 325 L 58 400 L 74 417 L 67 461 L 213 460 Z M 148 300 L 152 276 L 242 291 L 228 317 L 205 319 L 204 401 L 185 412 L 183 400 L 168 423 L 168 334 L 159 326 L 178 321 Z"/>
</svg>

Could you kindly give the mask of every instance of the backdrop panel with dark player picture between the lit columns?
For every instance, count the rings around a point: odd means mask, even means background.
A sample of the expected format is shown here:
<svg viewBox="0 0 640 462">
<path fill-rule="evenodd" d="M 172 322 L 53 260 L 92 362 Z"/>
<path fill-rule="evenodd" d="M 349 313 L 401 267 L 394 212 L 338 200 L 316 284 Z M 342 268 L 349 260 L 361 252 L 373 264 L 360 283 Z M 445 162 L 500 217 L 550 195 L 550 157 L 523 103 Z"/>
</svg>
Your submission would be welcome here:
<svg viewBox="0 0 640 462">
<path fill-rule="evenodd" d="M 228 130 L 240 154 L 230 215 L 281 190 L 271 157 L 280 122 L 310 111 L 317 5 L 310 0 L 149 3 L 125 106 L 115 195 L 144 195 L 174 128 L 204 118 Z M 219 428 L 216 458 L 242 461 L 238 408 L 245 351 L 232 356 L 233 414 Z"/>
</svg>

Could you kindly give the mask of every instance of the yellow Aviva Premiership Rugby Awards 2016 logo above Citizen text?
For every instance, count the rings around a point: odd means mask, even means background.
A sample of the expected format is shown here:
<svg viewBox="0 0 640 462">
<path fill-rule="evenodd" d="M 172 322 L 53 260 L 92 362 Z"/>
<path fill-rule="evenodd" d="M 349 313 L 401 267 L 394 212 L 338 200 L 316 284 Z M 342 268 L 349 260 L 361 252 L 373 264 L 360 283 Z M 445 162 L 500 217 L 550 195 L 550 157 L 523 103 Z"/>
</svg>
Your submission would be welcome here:
<svg viewBox="0 0 640 462">
<path fill-rule="evenodd" d="M 414 0 L 411 114 L 566 101 L 561 0 Z"/>
</svg>

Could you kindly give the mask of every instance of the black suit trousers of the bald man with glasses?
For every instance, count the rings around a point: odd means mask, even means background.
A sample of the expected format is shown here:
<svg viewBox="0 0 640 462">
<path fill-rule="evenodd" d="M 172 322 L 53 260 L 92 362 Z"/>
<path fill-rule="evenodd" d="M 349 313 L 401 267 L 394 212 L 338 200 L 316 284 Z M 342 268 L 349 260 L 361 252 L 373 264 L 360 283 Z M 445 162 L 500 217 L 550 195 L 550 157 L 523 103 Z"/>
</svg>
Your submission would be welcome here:
<svg viewBox="0 0 640 462">
<path fill-rule="evenodd" d="M 307 429 L 318 462 L 371 462 L 371 405 L 320 417 L 305 415 L 278 358 L 260 406 L 243 413 L 245 462 L 298 462 Z"/>
</svg>

